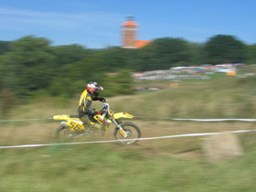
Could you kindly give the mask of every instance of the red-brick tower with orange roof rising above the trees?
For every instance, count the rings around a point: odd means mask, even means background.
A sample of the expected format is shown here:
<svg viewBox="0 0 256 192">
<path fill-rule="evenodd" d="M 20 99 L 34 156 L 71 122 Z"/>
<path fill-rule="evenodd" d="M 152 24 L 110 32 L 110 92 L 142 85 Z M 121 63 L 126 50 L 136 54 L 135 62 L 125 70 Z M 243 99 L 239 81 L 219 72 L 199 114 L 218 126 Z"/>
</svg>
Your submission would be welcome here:
<svg viewBox="0 0 256 192">
<path fill-rule="evenodd" d="M 127 20 L 122 26 L 123 48 L 136 48 L 137 27 L 138 25 L 134 22 L 133 16 L 127 16 Z"/>
</svg>

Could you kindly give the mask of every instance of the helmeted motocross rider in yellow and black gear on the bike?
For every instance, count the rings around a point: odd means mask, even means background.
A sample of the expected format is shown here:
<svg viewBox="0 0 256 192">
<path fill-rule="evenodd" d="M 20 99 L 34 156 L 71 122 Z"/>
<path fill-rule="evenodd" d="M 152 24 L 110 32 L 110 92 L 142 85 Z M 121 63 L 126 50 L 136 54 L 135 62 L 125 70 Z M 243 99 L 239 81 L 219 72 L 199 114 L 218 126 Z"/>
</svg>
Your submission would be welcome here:
<svg viewBox="0 0 256 192">
<path fill-rule="evenodd" d="M 105 101 L 105 98 L 103 97 L 98 97 L 99 91 L 102 91 L 103 88 L 94 81 L 90 81 L 87 86 L 86 90 L 84 90 L 81 95 L 80 95 L 80 103 L 79 103 L 79 117 L 80 120 L 85 123 L 89 124 L 91 122 L 96 122 L 93 119 L 93 116 L 96 114 L 101 114 L 101 112 L 96 112 L 94 109 L 91 109 L 91 102 L 92 101 Z"/>
</svg>

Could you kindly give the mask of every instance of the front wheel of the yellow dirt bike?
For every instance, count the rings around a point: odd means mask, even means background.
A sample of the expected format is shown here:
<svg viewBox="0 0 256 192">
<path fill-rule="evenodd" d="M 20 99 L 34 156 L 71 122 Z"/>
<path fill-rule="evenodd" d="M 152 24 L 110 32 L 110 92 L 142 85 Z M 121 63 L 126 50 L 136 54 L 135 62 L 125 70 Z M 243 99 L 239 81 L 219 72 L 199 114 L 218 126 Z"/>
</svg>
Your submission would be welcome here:
<svg viewBox="0 0 256 192">
<path fill-rule="evenodd" d="M 113 136 L 116 140 L 123 144 L 135 144 L 138 142 L 139 138 L 141 138 L 141 130 L 140 128 L 134 123 L 122 123 L 120 124 L 123 127 L 123 131 L 128 134 L 126 138 L 123 137 L 123 134 L 120 133 L 119 129 L 116 128 Z"/>
</svg>

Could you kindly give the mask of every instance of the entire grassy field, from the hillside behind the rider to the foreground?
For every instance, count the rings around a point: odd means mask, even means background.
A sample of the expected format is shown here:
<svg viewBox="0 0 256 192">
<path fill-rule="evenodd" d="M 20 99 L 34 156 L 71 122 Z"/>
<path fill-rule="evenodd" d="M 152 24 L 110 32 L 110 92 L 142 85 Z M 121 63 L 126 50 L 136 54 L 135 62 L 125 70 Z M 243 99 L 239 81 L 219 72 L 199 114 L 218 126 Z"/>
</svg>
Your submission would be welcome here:
<svg viewBox="0 0 256 192">
<path fill-rule="evenodd" d="M 185 80 L 179 87 L 107 101 L 116 112 L 131 112 L 135 117 L 255 118 L 255 83 L 255 76 L 220 75 L 212 80 Z M 11 112 L 11 118 L 76 113 L 78 101 L 79 96 L 70 101 L 37 98 L 18 106 Z M 100 108 L 100 103 L 94 107 Z M 150 118 L 146 121 L 137 118 L 134 123 L 141 127 L 143 137 L 256 127 L 254 123 L 181 123 Z M 0 143 L 55 143 L 53 135 L 58 124 L 52 121 L 1 123 Z M 205 160 L 201 150 L 205 137 L 141 141 L 131 146 L 80 144 L 0 149 L 0 191 L 254 192 L 256 133 L 238 136 L 244 155 L 216 164 Z M 112 139 L 112 129 L 100 139 Z"/>
</svg>

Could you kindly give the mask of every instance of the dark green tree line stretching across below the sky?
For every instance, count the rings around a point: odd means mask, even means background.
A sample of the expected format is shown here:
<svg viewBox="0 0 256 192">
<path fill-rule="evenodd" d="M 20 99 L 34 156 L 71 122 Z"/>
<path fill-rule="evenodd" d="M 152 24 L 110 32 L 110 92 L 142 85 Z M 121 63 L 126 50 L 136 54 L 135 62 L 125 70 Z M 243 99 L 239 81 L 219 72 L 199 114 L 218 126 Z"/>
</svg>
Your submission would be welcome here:
<svg viewBox="0 0 256 192">
<path fill-rule="evenodd" d="M 256 63 L 256 44 L 246 45 L 226 35 L 210 37 L 206 43 L 157 38 L 140 49 L 51 46 L 47 38 L 33 36 L 0 41 L 0 92 L 2 99 L 72 96 L 86 82 L 96 80 L 106 88 L 107 96 L 130 94 L 130 72 L 203 63 Z"/>
</svg>

